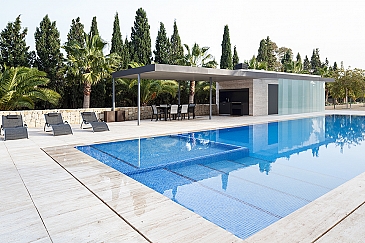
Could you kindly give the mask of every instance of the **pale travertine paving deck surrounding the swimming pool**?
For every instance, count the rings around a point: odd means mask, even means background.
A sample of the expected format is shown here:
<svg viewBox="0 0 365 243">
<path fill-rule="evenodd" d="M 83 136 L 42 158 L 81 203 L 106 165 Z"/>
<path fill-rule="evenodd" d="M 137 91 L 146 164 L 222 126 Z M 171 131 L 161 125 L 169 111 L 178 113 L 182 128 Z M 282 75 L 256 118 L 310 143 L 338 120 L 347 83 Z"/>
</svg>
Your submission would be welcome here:
<svg viewBox="0 0 365 243">
<path fill-rule="evenodd" d="M 365 174 L 243 241 L 73 148 L 318 114 L 143 120 L 139 127 L 130 121 L 110 123 L 102 133 L 73 126 L 74 135 L 59 137 L 29 129 L 29 139 L 0 141 L 0 241 L 361 242 Z"/>
</svg>

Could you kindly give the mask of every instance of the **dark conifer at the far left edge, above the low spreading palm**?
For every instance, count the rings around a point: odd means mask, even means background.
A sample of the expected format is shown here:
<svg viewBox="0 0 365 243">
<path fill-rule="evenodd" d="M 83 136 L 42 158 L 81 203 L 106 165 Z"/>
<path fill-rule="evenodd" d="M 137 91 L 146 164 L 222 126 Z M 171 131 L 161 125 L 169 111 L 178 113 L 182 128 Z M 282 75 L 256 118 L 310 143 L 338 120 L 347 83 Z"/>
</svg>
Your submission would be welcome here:
<svg viewBox="0 0 365 243">
<path fill-rule="evenodd" d="M 20 15 L 15 22 L 9 22 L 0 33 L 0 57 L 1 66 L 29 67 L 31 54 L 29 46 L 25 42 L 28 29 L 21 28 Z"/>
</svg>

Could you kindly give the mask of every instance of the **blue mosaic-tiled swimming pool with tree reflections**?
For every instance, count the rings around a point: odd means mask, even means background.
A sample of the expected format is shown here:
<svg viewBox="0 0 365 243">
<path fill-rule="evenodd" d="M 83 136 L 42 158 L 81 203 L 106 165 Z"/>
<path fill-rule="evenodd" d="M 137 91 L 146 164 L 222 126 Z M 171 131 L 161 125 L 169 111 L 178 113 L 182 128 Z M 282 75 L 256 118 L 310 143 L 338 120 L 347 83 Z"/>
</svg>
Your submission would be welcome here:
<svg viewBox="0 0 365 243">
<path fill-rule="evenodd" d="M 78 147 L 244 239 L 365 171 L 364 117 Z"/>
</svg>

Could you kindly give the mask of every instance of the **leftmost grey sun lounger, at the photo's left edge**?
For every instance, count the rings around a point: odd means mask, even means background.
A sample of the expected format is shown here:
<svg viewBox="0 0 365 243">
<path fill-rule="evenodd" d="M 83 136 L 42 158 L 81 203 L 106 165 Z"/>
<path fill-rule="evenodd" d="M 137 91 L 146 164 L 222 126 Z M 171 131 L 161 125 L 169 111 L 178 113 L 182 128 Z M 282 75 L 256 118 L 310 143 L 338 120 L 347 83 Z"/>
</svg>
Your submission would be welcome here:
<svg viewBox="0 0 365 243">
<path fill-rule="evenodd" d="M 4 131 L 4 141 L 28 138 L 27 125 L 21 115 L 3 115 L 1 130 Z"/>
</svg>

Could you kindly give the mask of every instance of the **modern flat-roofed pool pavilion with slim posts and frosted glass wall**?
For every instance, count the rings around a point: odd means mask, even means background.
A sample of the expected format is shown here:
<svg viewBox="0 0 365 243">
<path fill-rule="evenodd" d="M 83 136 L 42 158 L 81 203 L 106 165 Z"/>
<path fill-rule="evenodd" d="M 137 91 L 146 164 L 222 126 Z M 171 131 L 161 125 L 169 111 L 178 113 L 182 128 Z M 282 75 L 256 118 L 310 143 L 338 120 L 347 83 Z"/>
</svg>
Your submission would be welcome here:
<svg viewBox="0 0 365 243">
<path fill-rule="evenodd" d="M 243 65 L 238 65 L 238 67 Z M 209 119 L 212 118 L 212 83 L 216 82 L 216 105 L 220 115 L 288 115 L 323 112 L 325 82 L 332 78 L 248 69 L 214 69 L 167 64 L 151 64 L 117 71 L 115 79 L 138 79 L 138 125 L 140 124 L 140 80 L 195 80 L 210 82 Z M 180 100 L 180 99 L 179 99 Z"/>
</svg>

